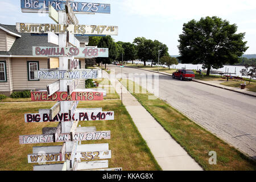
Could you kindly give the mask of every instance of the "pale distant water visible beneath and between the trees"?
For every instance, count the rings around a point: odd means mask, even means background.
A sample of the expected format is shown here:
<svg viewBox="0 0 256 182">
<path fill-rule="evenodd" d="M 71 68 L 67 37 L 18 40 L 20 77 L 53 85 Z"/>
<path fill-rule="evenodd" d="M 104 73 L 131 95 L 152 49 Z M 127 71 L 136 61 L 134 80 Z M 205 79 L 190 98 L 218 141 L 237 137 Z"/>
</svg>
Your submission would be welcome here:
<svg viewBox="0 0 256 182">
<path fill-rule="evenodd" d="M 128 63 L 131 63 L 131 61 L 128 61 Z M 143 61 L 135 60 L 135 61 L 133 61 L 133 63 L 143 64 Z M 151 65 L 151 62 L 146 62 L 146 65 Z M 156 64 L 155 66 L 157 67 L 158 64 Z M 201 70 L 203 70 L 202 66 L 203 66 L 202 64 L 181 64 L 181 63 L 179 63 L 177 65 L 172 65 L 170 68 L 174 68 L 174 69 L 185 68 L 185 69 L 201 69 Z M 163 67 L 168 68 L 166 65 L 163 65 Z M 242 76 L 241 73 L 240 73 L 240 71 L 244 68 L 245 67 L 243 67 L 243 66 L 224 65 L 223 68 L 212 69 L 212 71 L 221 71 L 221 72 L 225 72 L 225 73 L 234 73 L 234 74 L 231 74 L 231 75 L 232 76 L 245 77 L 245 76 Z M 205 70 L 207 70 L 207 69 L 205 69 Z"/>
</svg>

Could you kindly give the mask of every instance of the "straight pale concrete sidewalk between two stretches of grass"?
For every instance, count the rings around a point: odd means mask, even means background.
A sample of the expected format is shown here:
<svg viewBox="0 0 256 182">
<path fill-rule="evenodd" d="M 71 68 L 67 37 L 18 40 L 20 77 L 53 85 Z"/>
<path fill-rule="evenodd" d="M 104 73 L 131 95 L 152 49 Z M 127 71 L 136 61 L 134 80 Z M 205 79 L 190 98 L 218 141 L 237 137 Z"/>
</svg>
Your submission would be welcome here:
<svg viewBox="0 0 256 182">
<path fill-rule="evenodd" d="M 109 78 L 103 72 L 104 78 Z M 109 78 L 110 80 L 110 78 Z M 133 97 L 116 78 L 110 80 L 131 115 L 142 138 L 146 140 L 159 166 L 164 171 L 202 171 L 203 169 L 191 156 L 167 133 L 150 113 Z"/>
</svg>

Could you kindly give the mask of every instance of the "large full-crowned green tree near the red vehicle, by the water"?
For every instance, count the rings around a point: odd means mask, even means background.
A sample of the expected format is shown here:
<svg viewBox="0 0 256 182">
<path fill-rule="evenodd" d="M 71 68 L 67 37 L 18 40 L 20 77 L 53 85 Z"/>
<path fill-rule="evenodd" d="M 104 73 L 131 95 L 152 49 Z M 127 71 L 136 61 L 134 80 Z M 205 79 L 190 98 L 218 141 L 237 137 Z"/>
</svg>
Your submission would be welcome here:
<svg viewBox="0 0 256 182">
<path fill-rule="evenodd" d="M 203 64 L 207 68 L 222 68 L 224 64 L 238 63 L 238 57 L 246 51 L 243 42 L 245 33 L 235 34 L 236 24 L 229 24 L 213 16 L 191 20 L 183 24 L 183 34 L 179 35 L 178 57 L 181 63 Z"/>
</svg>

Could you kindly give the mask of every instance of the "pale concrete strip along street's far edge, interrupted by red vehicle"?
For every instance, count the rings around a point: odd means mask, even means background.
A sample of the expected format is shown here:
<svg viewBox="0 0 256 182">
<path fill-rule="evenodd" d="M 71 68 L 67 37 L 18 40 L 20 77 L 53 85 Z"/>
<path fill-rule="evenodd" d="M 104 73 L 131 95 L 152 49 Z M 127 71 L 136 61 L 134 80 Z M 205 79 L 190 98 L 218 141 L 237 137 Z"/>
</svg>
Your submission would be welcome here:
<svg viewBox="0 0 256 182">
<path fill-rule="evenodd" d="M 124 65 L 124 66 L 129 67 L 129 66 L 126 66 L 126 65 Z M 159 74 L 162 74 L 162 75 L 172 76 L 170 73 L 156 72 L 156 71 L 152 71 L 152 70 L 149 70 L 149 69 L 136 68 L 136 67 L 129 67 L 129 68 L 142 69 L 142 70 L 148 71 L 148 72 L 154 72 L 154 73 L 159 73 Z M 194 79 L 192 81 L 196 81 L 196 82 L 199 82 L 199 83 L 205 84 L 205 85 L 215 86 L 215 87 L 218 87 L 218 88 L 221 88 L 221 89 L 226 89 L 226 90 L 230 90 L 230 91 L 237 92 L 237 93 L 242 93 L 242 94 L 245 94 L 247 96 L 256 97 L 256 92 L 251 92 L 251 91 L 246 90 L 246 89 L 235 88 L 235 87 L 232 87 L 232 86 L 225 86 L 225 85 L 217 84 L 217 83 L 214 83 L 214 82 L 211 82 L 211 81 L 204 81 L 204 80 L 197 80 L 197 79 Z"/>
</svg>

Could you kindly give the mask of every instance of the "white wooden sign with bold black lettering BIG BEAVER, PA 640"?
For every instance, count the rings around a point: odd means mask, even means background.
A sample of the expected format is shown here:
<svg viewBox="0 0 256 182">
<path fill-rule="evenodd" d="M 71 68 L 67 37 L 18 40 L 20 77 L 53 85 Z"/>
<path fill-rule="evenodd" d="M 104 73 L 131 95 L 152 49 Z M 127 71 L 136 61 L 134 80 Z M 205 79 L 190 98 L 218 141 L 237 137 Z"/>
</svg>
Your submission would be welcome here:
<svg viewBox="0 0 256 182">
<path fill-rule="evenodd" d="M 67 122 L 67 121 L 105 121 L 114 120 L 114 111 L 75 111 L 69 113 L 57 113 L 53 119 L 49 119 L 49 113 L 24 114 L 26 123 L 32 122 Z"/>
</svg>

